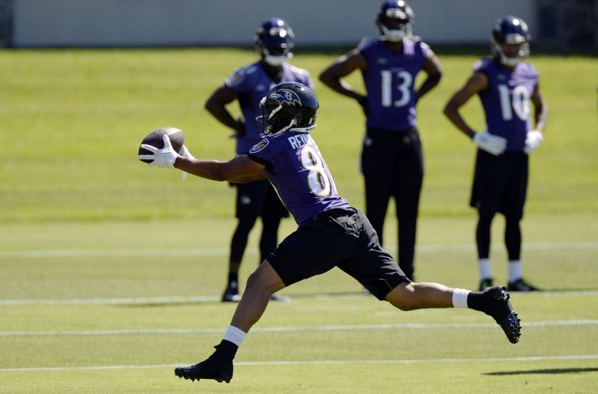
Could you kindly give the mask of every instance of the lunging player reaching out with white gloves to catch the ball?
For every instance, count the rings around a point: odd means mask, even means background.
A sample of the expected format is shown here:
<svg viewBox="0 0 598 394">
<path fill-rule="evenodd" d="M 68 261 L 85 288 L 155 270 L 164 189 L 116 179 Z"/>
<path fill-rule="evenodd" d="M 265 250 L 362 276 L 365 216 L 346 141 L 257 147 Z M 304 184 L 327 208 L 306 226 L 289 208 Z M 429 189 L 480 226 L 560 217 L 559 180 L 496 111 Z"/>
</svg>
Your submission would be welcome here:
<svg viewBox="0 0 598 394">
<path fill-rule="evenodd" d="M 310 132 L 316 127 L 319 103 L 303 84 L 285 82 L 261 101 L 257 121 L 262 139 L 248 153 L 227 161 L 198 160 L 179 155 L 164 137 L 164 148 L 142 145 L 151 165 L 178 168 L 205 179 L 250 182 L 269 179 L 295 218 L 298 229 L 287 236 L 250 275 L 245 292 L 224 338 L 207 360 L 178 367 L 184 379 L 229 382 L 233 359 L 246 334 L 269 302 L 270 295 L 304 279 L 338 267 L 378 300 L 400 310 L 464 307 L 485 312 L 500 324 L 511 343 L 521 326 L 504 287 L 472 292 L 435 283 L 414 283 L 378 242 L 367 217 L 338 195 L 326 161 Z"/>
</svg>

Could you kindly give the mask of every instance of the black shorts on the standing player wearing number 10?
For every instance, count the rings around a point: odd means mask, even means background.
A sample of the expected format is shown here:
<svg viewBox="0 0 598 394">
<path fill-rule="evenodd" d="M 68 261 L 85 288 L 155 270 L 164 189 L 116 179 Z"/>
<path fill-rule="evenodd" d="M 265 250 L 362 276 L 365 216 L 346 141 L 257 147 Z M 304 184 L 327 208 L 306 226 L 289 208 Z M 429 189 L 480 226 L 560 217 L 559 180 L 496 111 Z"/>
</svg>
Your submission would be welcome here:
<svg viewBox="0 0 598 394">
<path fill-rule="evenodd" d="M 500 156 L 478 149 L 470 205 L 480 215 L 523 217 L 528 189 L 528 155 L 505 152 Z"/>
</svg>

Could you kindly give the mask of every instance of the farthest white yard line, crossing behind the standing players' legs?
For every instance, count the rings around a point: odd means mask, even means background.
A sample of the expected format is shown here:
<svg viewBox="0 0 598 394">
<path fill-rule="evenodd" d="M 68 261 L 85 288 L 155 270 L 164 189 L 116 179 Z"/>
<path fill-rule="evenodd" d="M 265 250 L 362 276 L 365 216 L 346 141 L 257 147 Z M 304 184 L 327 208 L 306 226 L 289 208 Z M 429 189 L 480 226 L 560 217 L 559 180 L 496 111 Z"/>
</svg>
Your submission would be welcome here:
<svg viewBox="0 0 598 394">
<path fill-rule="evenodd" d="M 388 246 L 394 250 L 396 246 Z M 502 250 L 502 246 L 493 248 Z M 598 242 L 554 242 L 526 243 L 525 250 L 597 250 Z M 475 250 L 473 243 L 457 245 L 420 245 L 418 253 L 464 252 Z M 257 254 L 256 248 L 248 248 L 247 253 Z M 17 250 L 0 252 L 0 260 L 45 259 L 45 258 L 139 258 L 139 257 L 210 257 L 226 256 L 228 249 L 56 249 L 56 250 Z"/>
</svg>

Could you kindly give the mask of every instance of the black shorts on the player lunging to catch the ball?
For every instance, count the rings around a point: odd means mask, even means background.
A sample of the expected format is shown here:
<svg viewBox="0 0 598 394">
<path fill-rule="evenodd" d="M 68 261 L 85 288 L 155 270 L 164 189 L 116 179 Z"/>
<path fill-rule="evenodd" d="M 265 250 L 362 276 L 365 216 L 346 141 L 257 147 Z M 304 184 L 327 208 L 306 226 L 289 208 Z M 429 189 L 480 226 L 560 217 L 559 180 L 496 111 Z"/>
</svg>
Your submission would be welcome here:
<svg viewBox="0 0 598 394">
<path fill-rule="evenodd" d="M 378 300 L 410 282 L 382 248 L 363 212 L 335 208 L 319 212 L 289 235 L 267 258 L 286 286 L 338 267 Z"/>
</svg>

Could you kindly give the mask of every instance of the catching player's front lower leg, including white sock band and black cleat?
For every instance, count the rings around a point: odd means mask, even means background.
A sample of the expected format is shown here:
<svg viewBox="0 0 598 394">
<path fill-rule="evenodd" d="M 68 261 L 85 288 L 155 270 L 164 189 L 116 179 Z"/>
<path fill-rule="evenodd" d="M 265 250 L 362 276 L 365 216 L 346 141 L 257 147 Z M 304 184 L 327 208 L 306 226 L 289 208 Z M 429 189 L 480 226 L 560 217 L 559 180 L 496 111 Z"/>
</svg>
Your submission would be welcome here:
<svg viewBox="0 0 598 394">
<path fill-rule="evenodd" d="M 267 260 L 250 275 L 246 290 L 239 301 L 231 325 L 216 351 L 207 360 L 189 367 L 178 367 L 174 374 L 192 381 L 214 379 L 229 383 L 233 377 L 233 359 L 247 332 L 266 310 L 270 296 L 284 288 L 284 283 Z"/>
</svg>

